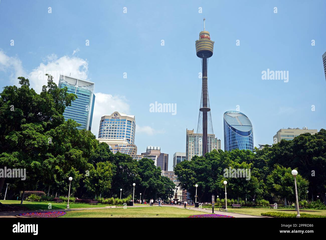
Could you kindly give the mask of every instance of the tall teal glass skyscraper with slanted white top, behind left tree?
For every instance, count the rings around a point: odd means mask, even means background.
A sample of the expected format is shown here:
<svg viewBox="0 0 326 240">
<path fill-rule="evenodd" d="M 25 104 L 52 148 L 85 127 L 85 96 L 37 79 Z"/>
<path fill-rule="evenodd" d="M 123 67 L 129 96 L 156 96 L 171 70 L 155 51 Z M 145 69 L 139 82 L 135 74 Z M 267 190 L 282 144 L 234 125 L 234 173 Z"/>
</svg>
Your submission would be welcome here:
<svg viewBox="0 0 326 240">
<path fill-rule="evenodd" d="M 81 126 L 77 127 L 78 129 L 90 131 L 95 102 L 94 83 L 60 75 L 58 87 L 67 87 L 68 93 L 74 93 L 78 97 L 75 101 L 71 102 L 71 106 L 66 107 L 63 113 L 65 120 L 75 120 L 81 124 Z"/>
</svg>

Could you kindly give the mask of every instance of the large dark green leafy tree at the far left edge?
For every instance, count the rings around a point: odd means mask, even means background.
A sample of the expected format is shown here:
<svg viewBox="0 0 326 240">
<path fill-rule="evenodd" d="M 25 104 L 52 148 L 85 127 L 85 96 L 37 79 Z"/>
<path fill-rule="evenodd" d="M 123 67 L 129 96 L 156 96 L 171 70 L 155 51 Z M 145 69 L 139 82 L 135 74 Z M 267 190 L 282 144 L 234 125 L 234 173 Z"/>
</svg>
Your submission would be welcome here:
<svg viewBox="0 0 326 240">
<path fill-rule="evenodd" d="M 65 106 L 75 95 L 67 93 L 67 88 L 58 90 L 52 86 L 51 78 L 40 94 L 29 88 L 28 79 L 18 79 L 20 88 L 6 86 L 0 94 L 0 168 L 25 168 L 26 180 L 9 180 L 24 190 L 44 176 L 42 164 L 49 148 L 47 131 L 64 122 Z M 5 178 L 1 178 L 0 191 L 4 182 Z"/>
</svg>

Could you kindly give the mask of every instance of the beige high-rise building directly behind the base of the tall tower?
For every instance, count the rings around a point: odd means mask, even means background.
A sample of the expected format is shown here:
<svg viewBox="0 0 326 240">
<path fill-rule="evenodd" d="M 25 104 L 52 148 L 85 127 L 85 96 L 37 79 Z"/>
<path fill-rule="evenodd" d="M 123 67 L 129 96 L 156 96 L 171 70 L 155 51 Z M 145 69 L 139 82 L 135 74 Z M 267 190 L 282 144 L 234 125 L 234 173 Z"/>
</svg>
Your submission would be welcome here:
<svg viewBox="0 0 326 240">
<path fill-rule="evenodd" d="M 186 160 L 191 160 L 193 156 L 202 156 L 202 136 L 201 133 L 194 133 L 194 129 L 186 130 Z M 213 149 L 221 149 L 221 140 L 217 139 L 215 134 L 208 134 L 207 152 L 211 152 Z"/>
</svg>

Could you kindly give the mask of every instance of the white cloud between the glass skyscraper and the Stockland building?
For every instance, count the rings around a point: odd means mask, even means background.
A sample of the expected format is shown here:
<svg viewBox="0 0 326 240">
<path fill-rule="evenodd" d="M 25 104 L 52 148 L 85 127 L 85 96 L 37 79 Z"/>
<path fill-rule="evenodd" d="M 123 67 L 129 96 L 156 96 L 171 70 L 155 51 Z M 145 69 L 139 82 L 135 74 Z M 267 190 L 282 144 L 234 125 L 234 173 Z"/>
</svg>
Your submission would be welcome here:
<svg viewBox="0 0 326 240">
<path fill-rule="evenodd" d="M 95 83 L 96 89 L 96 83 Z M 111 115 L 113 112 L 129 113 L 129 104 L 125 96 L 112 96 L 102 92 L 95 94 L 94 112 L 92 120 L 92 133 L 97 137 L 100 126 L 100 120 L 103 115 Z"/>
</svg>

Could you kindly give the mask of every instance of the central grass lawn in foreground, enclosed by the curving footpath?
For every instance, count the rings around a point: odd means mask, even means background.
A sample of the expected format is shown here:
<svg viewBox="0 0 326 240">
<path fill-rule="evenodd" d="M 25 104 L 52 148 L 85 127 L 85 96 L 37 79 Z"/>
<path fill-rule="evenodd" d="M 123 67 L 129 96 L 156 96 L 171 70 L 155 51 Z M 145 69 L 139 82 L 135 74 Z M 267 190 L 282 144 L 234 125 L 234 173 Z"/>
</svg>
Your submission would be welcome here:
<svg viewBox="0 0 326 240">
<path fill-rule="evenodd" d="M 176 207 L 128 207 L 69 211 L 61 217 L 188 217 L 207 214 Z"/>
</svg>

